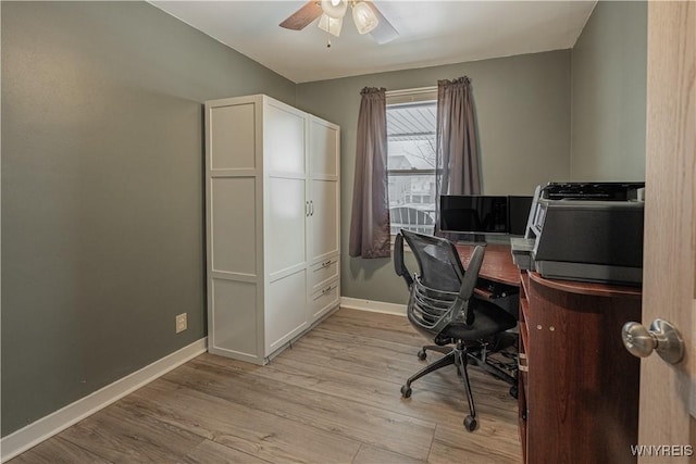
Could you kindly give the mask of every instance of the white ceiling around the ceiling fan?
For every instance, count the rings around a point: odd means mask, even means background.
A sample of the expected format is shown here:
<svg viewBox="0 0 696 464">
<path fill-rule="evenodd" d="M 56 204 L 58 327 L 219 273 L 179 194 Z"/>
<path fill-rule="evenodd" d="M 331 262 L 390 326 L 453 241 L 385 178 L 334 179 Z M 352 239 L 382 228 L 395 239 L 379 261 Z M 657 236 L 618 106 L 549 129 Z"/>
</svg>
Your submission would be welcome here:
<svg viewBox="0 0 696 464">
<path fill-rule="evenodd" d="M 340 37 L 278 26 L 304 1 L 151 1 L 295 83 L 568 49 L 592 1 L 396 1 L 375 5 L 399 32 L 377 45 L 346 17 Z"/>
</svg>

